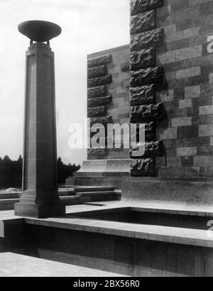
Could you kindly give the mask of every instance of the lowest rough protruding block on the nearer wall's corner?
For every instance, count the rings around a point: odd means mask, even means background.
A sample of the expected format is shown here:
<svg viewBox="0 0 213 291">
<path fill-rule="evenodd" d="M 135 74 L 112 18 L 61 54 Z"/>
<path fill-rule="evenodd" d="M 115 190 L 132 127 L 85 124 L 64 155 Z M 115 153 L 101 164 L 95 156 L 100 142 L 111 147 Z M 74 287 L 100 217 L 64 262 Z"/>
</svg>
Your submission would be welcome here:
<svg viewBox="0 0 213 291">
<path fill-rule="evenodd" d="M 131 159 L 131 176 L 154 177 L 155 162 L 153 159 Z"/>
</svg>

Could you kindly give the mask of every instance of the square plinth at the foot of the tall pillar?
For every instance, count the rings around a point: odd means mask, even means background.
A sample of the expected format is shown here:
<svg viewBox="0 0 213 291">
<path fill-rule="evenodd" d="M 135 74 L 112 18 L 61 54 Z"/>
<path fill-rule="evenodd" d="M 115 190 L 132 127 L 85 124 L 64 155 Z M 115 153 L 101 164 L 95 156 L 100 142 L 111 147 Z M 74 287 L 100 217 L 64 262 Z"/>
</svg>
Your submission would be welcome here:
<svg viewBox="0 0 213 291">
<path fill-rule="evenodd" d="M 32 218 L 48 218 L 65 216 L 66 206 L 63 204 L 15 204 L 15 215 Z"/>
</svg>

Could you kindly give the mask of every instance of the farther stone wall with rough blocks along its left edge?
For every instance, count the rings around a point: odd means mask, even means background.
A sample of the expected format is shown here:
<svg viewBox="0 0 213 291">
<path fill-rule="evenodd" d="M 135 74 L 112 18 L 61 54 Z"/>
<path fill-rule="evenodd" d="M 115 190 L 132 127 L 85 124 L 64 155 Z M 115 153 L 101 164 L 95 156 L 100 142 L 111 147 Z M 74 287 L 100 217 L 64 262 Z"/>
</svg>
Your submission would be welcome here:
<svg viewBox="0 0 213 291">
<path fill-rule="evenodd" d="M 87 116 L 91 123 L 129 123 L 129 45 L 88 55 Z M 128 159 L 129 149 L 88 150 L 88 160 Z"/>
</svg>

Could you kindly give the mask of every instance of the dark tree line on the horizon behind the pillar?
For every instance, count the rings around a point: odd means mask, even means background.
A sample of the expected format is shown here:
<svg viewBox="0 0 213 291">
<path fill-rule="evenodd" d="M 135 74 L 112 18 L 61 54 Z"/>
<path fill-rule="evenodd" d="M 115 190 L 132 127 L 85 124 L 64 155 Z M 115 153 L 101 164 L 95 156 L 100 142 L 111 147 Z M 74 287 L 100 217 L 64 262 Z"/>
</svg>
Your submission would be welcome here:
<svg viewBox="0 0 213 291">
<path fill-rule="evenodd" d="M 0 158 L 0 188 L 21 188 L 22 184 L 22 157 L 11 160 L 8 155 Z M 80 165 L 65 165 L 58 158 L 58 184 L 65 183 L 67 177 L 72 177 L 74 172 L 80 170 Z"/>
</svg>

